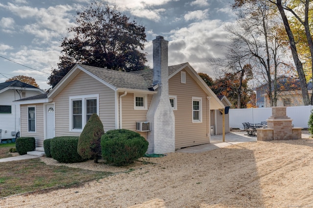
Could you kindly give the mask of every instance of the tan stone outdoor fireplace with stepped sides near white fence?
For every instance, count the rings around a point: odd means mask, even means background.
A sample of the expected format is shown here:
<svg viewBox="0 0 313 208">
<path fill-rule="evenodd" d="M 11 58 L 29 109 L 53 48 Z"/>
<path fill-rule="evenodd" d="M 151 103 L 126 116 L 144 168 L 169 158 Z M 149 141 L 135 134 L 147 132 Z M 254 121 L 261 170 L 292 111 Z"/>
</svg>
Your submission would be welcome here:
<svg viewBox="0 0 313 208">
<path fill-rule="evenodd" d="M 292 127 L 292 119 L 287 117 L 287 107 L 272 107 L 272 116 L 267 119 L 267 128 L 257 128 L 257 140 L 301 139 L 301 127 Z"/>
</svg>

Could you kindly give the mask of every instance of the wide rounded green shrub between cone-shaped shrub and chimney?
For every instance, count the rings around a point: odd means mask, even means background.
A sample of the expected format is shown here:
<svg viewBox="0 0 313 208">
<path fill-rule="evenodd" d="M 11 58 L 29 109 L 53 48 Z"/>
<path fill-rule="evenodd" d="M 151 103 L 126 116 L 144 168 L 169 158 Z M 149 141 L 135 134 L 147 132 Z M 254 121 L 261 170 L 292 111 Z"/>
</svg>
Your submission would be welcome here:
<svg viewBox="0 0 313 208">
<path fill-rule="evenodd" d="M 116 129 L 101 137 L 102 158 L 115 166 L 126 166 L 142 157 L 149 143 L 139 133 Z"/>
</svg>

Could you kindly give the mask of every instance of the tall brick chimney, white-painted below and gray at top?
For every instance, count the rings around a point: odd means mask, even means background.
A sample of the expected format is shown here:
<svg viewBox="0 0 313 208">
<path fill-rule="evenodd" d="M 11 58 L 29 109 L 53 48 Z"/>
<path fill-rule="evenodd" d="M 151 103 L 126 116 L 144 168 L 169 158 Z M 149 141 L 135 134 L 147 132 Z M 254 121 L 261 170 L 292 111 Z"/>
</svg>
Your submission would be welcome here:
<svg viewBox="0 0 313 208">
<path fill-rule="evenodd" d="M 153 40 L 153 84 L 158 87 L 147 112 L 147 120 L 151 122 L 148 153 L 174 152 L 175 116 L 168 95 L 168 41 L 162 36 Z"/>
</svg>

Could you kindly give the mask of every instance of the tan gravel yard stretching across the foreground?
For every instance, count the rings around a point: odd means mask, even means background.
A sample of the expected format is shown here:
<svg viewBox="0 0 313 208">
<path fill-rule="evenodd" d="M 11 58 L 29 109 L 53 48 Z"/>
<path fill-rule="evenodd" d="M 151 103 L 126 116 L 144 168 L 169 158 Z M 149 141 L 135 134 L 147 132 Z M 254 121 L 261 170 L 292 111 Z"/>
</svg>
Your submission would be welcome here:
<svg viewBox="0 0 313 208">
<path fill-rule="evenodd" d="M 51 159 L 43 158 L 49 164 Z M 313 139 L 241 143 L 170 153 L 131 167 L 75 164 L 117 173 L 82 187 L 9 197 L 0 207 L 312 207 Z"/>
</svg>

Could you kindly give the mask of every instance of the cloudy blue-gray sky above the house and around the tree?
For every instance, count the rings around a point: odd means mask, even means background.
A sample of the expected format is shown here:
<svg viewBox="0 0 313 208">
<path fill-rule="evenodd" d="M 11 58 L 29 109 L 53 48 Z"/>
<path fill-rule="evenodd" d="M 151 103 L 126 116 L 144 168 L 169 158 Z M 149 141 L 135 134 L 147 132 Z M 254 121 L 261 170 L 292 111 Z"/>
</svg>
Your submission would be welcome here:
<svg viewBox="0 0 313 208">
<path fill-rule="evenodd" d="M 59 62 L 62 39 L 76 11 L 91 0 L 7 0 L 0 2 L 0 83 L 16 75 L 36 79 L 40 88 Z M 223 56 L 223 25 L 234 21 L 233 0 L 108 0 L 146 27 L 145 51 L 152 66 L 152 40 L 169 41 L 169 65 L 189 62 L 213 76 L 207 60 Z M 13 61 L 8 61 L 7 59 Z M 16 62 L 16 63 L 15 63 Z M 19 63 L 19 64 L 18 64 Z M 26 67 L 27 66 L 27 67 Z M 28 68 L 30 67 L 30 68 Z"/>
</svg>

